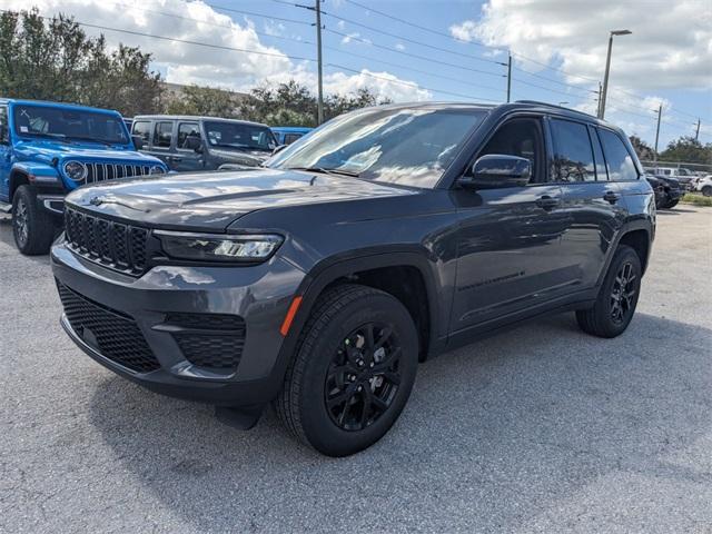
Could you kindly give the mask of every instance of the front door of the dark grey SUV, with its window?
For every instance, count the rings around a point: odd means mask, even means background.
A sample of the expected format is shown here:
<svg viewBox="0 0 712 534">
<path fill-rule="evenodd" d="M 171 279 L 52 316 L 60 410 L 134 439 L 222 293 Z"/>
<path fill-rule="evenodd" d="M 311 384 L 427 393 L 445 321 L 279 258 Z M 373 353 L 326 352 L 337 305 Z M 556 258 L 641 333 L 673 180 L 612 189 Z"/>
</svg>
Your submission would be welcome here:
<svg viewBox="0 0 712 534">
<path fill-rule="evenodd" d="M 541 118 L 511 119 L 477 155 L 528 158 L 527 186 L 453 191 L 461 226 L 452 333 L 565 291 L 561 236 L 567 220 L 561 187 L 548 181 L 543 131 Z"/>
</svg>

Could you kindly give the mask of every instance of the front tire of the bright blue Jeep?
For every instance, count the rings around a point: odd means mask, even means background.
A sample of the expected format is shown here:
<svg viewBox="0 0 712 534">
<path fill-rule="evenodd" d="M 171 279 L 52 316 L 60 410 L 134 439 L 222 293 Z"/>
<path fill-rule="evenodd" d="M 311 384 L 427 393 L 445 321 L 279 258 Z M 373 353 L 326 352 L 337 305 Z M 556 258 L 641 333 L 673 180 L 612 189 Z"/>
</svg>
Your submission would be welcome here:
<svg viewBox="0 0 712 534">
<path fill-rule="evenodd" d="M 20 186 L 12 197 L 12 236 L 20 253 L 37 256 L 49 253 L 55 239 L 52 217 L 38 208 L 30 186 Z"/>
</svg>

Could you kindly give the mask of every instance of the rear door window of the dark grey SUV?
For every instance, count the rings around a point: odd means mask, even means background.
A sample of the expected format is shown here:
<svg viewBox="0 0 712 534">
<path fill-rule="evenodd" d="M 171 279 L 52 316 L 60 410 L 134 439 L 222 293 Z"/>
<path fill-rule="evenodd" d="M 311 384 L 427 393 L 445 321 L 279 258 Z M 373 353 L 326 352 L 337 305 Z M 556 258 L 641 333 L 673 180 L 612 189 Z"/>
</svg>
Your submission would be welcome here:
<svg viewBox="0 0 712 534">
<path fill-rule="evenodd" d="M 554 138 L 554 179 L 594 181 L 593 151 L 589 129 L 580 122 L 552 119 Z"/>
</svg>

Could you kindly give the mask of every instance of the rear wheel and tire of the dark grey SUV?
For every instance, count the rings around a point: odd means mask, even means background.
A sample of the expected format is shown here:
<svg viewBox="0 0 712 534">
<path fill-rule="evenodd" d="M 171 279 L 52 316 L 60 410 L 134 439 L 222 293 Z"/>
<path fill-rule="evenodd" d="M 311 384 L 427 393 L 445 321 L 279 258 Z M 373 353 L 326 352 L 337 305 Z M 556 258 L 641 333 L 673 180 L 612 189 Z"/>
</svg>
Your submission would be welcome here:
<svg viewBox="0 0 712 534">
<path fill-rule="evenodd" d="M 616 337 L 623 334 L 635 314 L 641 276 L 641 260 L 635 250 L 627 245 L 619 246 L 594 306 L 576 312 L 581 329 L 599 337 Z"/>
</svg>

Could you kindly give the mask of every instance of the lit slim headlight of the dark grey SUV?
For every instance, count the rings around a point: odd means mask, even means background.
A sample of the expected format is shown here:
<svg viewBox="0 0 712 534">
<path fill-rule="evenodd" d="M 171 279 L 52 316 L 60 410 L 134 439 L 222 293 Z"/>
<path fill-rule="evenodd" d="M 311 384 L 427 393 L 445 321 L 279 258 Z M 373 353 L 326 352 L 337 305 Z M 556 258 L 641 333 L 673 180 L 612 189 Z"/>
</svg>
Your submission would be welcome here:
<svg viewBox="0 0 712 534">
<path fill-rule="evenodd" d="M 171 258 L 208 261 L 263 261 L 284 240 L 276 235 L 229 236 L 161 230 L 155 235 Z"/>
</svg>

